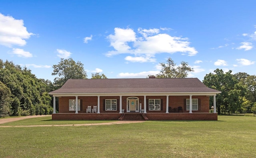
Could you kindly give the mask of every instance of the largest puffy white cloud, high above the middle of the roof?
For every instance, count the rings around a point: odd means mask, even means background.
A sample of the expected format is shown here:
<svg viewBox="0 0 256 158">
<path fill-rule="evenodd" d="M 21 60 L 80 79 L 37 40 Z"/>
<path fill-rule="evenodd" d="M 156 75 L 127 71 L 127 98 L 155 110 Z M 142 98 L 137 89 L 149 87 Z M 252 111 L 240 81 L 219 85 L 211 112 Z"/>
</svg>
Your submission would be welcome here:
<svg viewBox="0 0 256 158">
<path fill-rule="evenodd" d="M 160 33 L 166 29 L 142 29 L 138 28 L 138 33 L 133 29 L 122 29 L 116 27 L 114 35 L 108 35 L 110 46 L 114 51 L 108 51 L 107 57 L 118 54 L 132 54 L 125 60 L 130 62 L 154 62 L 154 56 L 158 53 L 187 53 L 194 56 L 198 52 L 194 47 L 190 47 L 188 38 L 172 37 L 166 33 Z"/>
</svg>

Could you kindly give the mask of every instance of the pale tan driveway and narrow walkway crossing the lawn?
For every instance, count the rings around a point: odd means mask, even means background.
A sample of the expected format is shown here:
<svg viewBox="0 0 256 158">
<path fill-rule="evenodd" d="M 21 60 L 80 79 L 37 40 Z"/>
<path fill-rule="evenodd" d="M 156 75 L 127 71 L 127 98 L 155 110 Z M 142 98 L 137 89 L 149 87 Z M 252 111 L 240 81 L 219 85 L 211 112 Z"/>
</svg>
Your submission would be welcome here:
<svg viewBox="0 0 256 158">
<path fill-rule="evenodd" d="M 26 116 L 26 117 L 15 117 L 8 119 L 0 119 L 0 124 L 8 123 L 12 121 L 18 121 L 22 119 L 30 119 L 35 117 L 46 117 L 51 115 L 34 115 L 34 116 Z M 31 126 L 0 126 L 0 127 L 54 127 L 54 126 L 95 126 L 95 125 L 116 125 L 116 124 L 124 124 L 124 123 L 143 123 L 144 121 L 113 121 L 106 123 L 88 123 L 88 124 L 71 124 L 71 125 L 31 125 Z"/>
</svg>

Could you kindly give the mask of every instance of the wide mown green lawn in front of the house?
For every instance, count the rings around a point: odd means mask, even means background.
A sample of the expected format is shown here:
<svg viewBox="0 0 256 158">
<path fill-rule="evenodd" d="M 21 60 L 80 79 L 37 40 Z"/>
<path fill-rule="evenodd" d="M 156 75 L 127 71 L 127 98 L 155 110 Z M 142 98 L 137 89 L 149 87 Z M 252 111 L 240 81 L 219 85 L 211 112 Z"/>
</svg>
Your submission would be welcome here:
<svg viewBox="0 0 256 158">
<path fill-rule="evenodd" d="M 29 119 L 27 124 L 70 122 L 38 119 Z M 244 116 L 218 116 L 218 121 L 0 127 L 0 157 L 254 158 L 255 132 L 256 117 Z"/>
</svg>

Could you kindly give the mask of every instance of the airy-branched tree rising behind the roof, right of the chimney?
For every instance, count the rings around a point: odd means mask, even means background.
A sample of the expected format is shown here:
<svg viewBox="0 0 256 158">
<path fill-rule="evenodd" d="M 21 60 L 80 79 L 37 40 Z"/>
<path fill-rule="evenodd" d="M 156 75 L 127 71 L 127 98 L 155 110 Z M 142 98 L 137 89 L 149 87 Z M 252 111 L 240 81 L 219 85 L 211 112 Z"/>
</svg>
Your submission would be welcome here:
<svg viewBox="0 0 256 158">
<path fill-rule="evenodd" d="M 180 62 L 180 66 L 176 66 L 176 63 L 169 57 L 167 63 L 160 63 L 162 66 L 159 74 L 156 74 L 156 78 L 186 78 L 188 72 L 193 72 L 193 68 L 188 66 L 188 62 Z"/>
</svg>

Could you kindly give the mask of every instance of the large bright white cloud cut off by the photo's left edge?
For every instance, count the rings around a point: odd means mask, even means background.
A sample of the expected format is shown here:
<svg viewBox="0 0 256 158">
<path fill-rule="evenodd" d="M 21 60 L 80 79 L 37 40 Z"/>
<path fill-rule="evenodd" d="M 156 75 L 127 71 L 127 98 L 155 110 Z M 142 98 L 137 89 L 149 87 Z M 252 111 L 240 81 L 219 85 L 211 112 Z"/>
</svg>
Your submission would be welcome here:
<svg viewBox="0 0 256 158">
<path fill-rule="evenodd" d="M 12 47 L 12 45 L 24 46 L 24 39 L 30 38 L 33 33 L 29 33 L 24 27 L 23 20 L 16 20 L 12 16 L 4 16 L 0 13 L 0 45 Z"/>
</svg>

